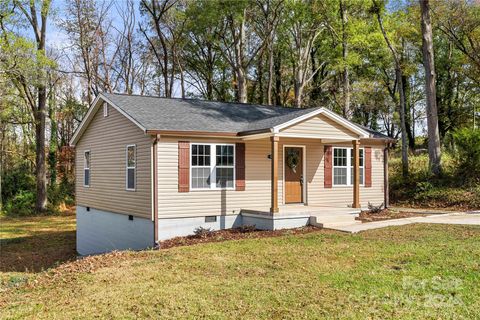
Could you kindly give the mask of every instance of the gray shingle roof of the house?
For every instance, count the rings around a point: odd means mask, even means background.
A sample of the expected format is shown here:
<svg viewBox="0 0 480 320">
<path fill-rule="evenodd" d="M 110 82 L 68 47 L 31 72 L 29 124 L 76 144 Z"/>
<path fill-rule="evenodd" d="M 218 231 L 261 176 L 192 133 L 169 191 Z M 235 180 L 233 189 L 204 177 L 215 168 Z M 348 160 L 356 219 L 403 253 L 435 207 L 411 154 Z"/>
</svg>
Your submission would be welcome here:
<svg viewBox="0 0 480 320">
<path fill-rule="evenodd" d="M 102 93 L 146 130 L 245 133 L 283 124 L 320 108 L 288 108 L 196 99 Z M 385 138 L 367 130 L 373 138 Z M 387 137 L 388 138 L 388 137 Z"/>
</svg>

